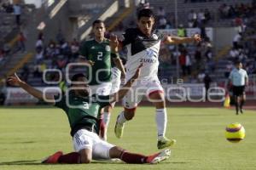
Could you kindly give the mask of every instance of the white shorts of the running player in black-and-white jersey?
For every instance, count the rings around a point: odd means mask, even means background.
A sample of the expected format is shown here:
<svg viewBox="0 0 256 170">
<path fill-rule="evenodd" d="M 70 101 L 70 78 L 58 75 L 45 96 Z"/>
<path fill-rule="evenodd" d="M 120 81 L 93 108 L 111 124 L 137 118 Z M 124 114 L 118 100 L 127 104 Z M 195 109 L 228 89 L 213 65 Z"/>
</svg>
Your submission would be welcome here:
<svg viewBox="0 0 256 170">
<path fill-rule="evenodd" d="M 164 93 L 158 77 L 148 80 L 137 80 L 133 83 L 131 90 L 123 99 L 123 106 L 126 109 L 135 109 L 142 101 L 143 96 L 148 97 L 154 92 Z"/>
</svg>

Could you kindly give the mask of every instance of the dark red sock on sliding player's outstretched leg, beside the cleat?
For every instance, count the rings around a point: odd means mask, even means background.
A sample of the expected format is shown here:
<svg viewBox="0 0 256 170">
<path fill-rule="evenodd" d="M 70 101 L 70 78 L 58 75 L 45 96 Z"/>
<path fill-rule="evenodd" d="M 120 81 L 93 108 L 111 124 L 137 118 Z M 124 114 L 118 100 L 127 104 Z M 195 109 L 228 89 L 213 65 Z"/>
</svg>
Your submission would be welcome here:
<svg viewBox="0 0 256 170">
<path fill-rule="evenodd" d="M 125 151 L 120 156 L 120 160 L 125 161 L 126 163 L 134 163 L 134 164 L 147 163 L 147 158 L 148 156 L 133 154 Z"/>
</svg>

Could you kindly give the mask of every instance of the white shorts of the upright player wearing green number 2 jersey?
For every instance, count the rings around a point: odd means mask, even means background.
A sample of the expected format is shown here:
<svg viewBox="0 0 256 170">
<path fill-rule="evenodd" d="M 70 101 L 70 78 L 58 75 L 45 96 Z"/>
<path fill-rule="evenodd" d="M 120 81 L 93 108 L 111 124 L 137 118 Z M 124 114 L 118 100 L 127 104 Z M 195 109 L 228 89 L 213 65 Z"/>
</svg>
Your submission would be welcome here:
<svg viewBox="0 0 256 170">
<path fill-rule="evenodd" d="M 111 82 L 103 82 L 102 84 L 91 85 L 90 94 L 98 95 L 109 95 L 111 91 L 112 84 Z"/>
</svg>

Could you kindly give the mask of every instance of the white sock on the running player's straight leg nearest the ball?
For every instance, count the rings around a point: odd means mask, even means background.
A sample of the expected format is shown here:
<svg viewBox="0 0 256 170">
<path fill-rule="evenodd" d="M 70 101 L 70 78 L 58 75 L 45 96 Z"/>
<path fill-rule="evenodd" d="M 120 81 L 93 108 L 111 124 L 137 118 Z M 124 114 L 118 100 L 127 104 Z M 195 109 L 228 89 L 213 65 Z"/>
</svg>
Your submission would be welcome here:
<svg viewBox="0 0 256 170">
<path fill-rule="evenodd" d="M 158 139 L 163 139 L 166 135 L 166 124 L 167 124 L 166 108 L 156 109 L 155 112 L 156 112 L 155 122 L 157 125 Z"/>
</svg>

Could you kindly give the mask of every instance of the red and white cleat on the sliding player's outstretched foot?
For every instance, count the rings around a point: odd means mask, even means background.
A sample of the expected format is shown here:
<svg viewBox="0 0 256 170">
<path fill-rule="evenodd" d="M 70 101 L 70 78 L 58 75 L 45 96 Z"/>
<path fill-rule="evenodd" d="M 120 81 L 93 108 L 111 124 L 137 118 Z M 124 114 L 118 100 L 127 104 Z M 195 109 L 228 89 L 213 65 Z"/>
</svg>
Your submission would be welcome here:
<svg viewBox="0 0 256 170">
<path fill-rule="evenodd" d="M 154 154 L 153 156 L 148 156 L 146 162 L 151 164 L 159 163 L 160 161 L 164 161 L 168 159 L 171 156 L 171 150 L 166 149 L 162 150 L 157 154 Z"/>
</svg>

